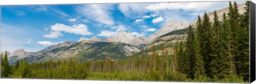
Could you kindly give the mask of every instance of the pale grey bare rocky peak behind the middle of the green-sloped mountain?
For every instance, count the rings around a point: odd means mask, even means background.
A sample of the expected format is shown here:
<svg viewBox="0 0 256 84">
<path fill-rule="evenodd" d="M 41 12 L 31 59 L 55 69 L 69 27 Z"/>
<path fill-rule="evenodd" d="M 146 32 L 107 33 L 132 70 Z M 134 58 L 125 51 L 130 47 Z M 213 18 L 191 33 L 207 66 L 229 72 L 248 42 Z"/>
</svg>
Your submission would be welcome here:
<svg viewBox="0 0 256 84">
<path fill-rule="evenodd" d="M 121 42 L 121 43 L 129 44 L 129 42 L 132 41 L 134 38 L 135 37 L 131 33 L 119 32 L 116 36 L 104 38 L 101 41 L 105 41 L 105 42 Z"/>
</svg>

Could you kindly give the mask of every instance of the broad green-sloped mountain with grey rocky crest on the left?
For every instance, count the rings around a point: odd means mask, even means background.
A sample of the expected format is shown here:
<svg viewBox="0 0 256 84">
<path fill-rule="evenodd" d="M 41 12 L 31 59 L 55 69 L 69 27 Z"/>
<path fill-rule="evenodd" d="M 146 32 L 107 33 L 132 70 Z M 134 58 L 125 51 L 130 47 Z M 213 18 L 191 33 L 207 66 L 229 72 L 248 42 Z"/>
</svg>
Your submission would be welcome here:
<svg viewBox="0 0 256 84">
<path fill-rule="evenodd" d="M 26 60 L 29 63 L 45 62 L 48 60 L 69 60 L 69 57 L 77 57 L 79 62 L 104 60 L 105 56 L 111 60 L 118 60 L 126 56 L 132 55 L 132 52 L 139 52 L 140 49 L 125 43 L 119 42 L 101 42 L 101 41 L 80 41 L 69 42 L 65 41 L 61 44 L 52 45 L 36 53 L 28 53 L 19 49 L 17 55 L 9 57 L 10 64 L 14 64 L 16 60 Z"/>
</svg>

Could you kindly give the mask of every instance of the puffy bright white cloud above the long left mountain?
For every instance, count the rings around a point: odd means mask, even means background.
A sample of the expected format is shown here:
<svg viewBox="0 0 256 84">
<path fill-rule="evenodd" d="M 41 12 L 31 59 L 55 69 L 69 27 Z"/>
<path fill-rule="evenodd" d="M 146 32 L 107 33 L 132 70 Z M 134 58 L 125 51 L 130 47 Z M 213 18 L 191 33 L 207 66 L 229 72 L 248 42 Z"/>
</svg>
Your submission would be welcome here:
<svg viewBox="0 0 256 84">
<path fill-rule="evenodd" d="M 92 33 L 88 31 L 85 24 L 76 24 L 73 26 L 66 26 L 65 24 L 56 23 L 51 26 L 50 35 L 44 35 L 46 38 L 57 38 L 63 36 L 61 32 L 74 33 L 76 35 L 91 35 Z"/>
</svg>

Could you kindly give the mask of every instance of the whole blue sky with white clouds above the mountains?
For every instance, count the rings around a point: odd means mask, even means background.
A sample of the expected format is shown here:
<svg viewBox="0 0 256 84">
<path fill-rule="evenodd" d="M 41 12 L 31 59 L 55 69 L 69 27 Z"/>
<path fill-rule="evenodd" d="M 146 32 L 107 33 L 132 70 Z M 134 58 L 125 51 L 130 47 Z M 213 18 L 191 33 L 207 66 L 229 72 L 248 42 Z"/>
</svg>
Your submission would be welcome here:
<svg viewBox="0 0 256 84">
<path fill-rule="evenodd" d="M 37 52 L 63 41 L 93 36 L 102 39 L 118 32 L 148 37 L 168 21 L 193 23 L 197 15 L 227 6 L 227 1 L 2 5 L 1 52 L 20 48 Z"/>
</svg>

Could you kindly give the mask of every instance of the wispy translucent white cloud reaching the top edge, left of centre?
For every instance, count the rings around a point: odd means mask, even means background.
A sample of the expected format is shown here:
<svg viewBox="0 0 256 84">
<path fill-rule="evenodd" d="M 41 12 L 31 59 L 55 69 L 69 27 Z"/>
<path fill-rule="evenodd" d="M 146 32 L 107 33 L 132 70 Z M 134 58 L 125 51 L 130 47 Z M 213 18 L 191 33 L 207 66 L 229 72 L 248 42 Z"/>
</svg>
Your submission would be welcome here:
<svg viewBox="0 0 256 84">
<path fill-rule="evenodd" d="M 110 8 L 111 5 L 109 4 L 86 4 L 82 7 L 77 7 L 76 10 L 90 20 L 106 26 L 112 26 L 114 21 L 109 12 Z"/>
</svg>

